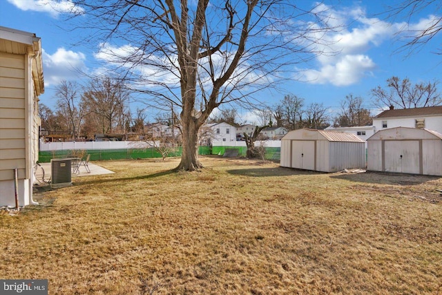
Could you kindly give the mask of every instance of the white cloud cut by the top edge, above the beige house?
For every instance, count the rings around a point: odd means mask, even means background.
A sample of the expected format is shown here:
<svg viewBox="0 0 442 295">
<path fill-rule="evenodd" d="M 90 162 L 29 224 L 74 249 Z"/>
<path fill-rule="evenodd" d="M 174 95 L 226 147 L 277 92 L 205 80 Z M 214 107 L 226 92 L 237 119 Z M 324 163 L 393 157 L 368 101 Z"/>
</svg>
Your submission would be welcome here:
<svg viewBox="0 0 442 295">
<path fill-rule="evenodd" d="M 52 17 L 57 17 L 60 13 L 73 13 L 76 15 L 84 13 L 83 8 L 69 0 L 8 0 L 8 2 L 21 10 L 48 12 Z"/>
</svg>

